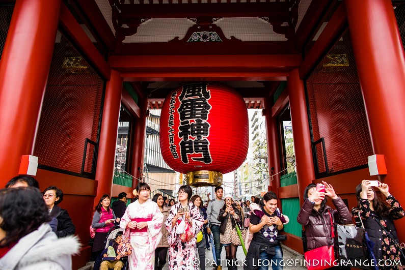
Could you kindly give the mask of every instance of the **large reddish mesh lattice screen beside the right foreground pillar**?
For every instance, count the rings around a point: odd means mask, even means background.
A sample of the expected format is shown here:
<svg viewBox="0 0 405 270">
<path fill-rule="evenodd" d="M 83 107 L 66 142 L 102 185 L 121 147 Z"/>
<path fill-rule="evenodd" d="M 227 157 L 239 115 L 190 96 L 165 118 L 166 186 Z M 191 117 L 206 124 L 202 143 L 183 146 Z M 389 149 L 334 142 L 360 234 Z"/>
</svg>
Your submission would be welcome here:
<svg viewBox="0 0 405 270">
<path fill-rule="evenodd" d="M 373 152 L 348 30 L 305 86 L 317 177 L 367 164 Z"/>
</svg>

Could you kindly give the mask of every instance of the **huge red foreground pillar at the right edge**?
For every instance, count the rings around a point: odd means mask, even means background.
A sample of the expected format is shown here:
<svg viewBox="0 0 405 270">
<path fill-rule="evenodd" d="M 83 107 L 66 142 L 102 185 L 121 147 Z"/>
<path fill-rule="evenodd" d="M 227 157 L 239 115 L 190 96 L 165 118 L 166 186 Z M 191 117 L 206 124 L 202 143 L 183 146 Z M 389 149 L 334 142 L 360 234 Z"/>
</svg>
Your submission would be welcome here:
<svg viewBox="0 0 405 270">
<path fill-rule="evenodd" d="M 405 55 L 389 0 L 345 1 L 350 36 L 375 154 L 383 154 L 388 175 L 380 181 L 405 204 Z M 359 179 L 360 183 L 361 179 Z M 396 221 L 404 228 L 405 219 Z M 405 230 L 397 230 L 400 242 Z"/>
</svg>

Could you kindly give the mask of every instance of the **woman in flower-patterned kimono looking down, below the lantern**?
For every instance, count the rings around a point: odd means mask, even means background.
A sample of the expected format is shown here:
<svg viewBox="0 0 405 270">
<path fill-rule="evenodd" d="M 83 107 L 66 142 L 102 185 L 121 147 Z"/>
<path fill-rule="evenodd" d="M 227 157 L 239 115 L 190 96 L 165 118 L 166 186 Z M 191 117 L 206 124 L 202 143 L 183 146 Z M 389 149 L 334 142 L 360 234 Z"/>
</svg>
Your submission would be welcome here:
<svg viewBox="0 0 405 270">
<path fill-rule="evenodd" d="M 170 209 L 169 217 L 165 226 L 169 231 L 169 269 L 171 270 L 198 270 L 199 261 L 196 259 L 196 235 L 204 223 L 203 217 L 197 206 L 190 201 L 193 191 L 190 186 L 179 188 L 179 202 Z M 176 233 L 177 227 L 182 219 L 187 219 L 191 225 L 193 237 L 182 242 L 180 234 Z M 205 262 L 200 262 L 205 263 Z"/>
</svg>

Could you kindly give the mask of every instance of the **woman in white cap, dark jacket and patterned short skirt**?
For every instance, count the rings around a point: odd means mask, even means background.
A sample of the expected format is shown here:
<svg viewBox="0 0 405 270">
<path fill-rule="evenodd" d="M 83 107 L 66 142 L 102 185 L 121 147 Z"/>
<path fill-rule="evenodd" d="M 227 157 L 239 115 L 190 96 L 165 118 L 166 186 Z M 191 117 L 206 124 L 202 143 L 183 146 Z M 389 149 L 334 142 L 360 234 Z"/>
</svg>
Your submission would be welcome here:
<svg viewBox="0 0 405 270">
<path fill-rule="evenodd" d="M 242 213 L 240 213 L 238 208 L 233 206 L 232 194 L 225 194 L 224 201 L 225 204 L 220 209 L 220 214 L 218 215 L 218 221 L 221 222 L 221 244 L 225 247 L 226 266 L 228 269 L 236 270 L 236 251 L 238 246 L 232 244 L 231 231 L 237 226 L 236 222 L 242 221 Z"/>
</svg>

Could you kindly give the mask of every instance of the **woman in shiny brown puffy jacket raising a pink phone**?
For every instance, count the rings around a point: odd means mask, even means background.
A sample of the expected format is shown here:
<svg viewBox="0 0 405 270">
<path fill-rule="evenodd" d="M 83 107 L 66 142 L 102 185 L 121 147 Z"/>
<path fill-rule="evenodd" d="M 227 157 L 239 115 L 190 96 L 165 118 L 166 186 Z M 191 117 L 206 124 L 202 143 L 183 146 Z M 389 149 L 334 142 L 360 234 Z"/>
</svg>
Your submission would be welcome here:
<svg viewBox="0 0 405 270">
<path fill-rule="evenodd" d="M 352 223 L 349 209 L 343 200 L 336 195 L 332 185 L 323 181 L 322 184 L 325 185 L 324 190 L 317 190 L 315 184 L 309 184 L 305 188 L 304 204 L 298 213 L 297 221 L 305 227 L 308 251 L 322 246 L 334 245 L 331 238 L 331 226 L 333 224 Z M 332 199 L 336 209 L 326 205 L 326 196 Z M 333 224 L 331 224 L 331 217 Z M 343 266 L 335 267 L 337 267 L 336 269 L 345 268 Z"/>
</svg>

